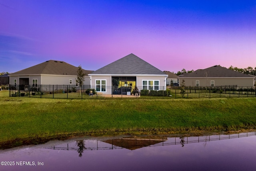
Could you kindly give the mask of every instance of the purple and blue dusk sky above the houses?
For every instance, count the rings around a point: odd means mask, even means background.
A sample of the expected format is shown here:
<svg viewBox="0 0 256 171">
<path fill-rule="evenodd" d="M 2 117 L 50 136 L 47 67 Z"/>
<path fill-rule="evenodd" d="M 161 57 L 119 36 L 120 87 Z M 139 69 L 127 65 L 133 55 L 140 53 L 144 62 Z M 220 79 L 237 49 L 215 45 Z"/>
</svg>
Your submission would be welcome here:
<svg viewBox="0 0 256 171">
<path fill-rule="evenodd" d="M 256 0 L 0 0 L 0 72 L 95 71 L 130 53 L 174 73 L 254 68 Z"/>
</svg>

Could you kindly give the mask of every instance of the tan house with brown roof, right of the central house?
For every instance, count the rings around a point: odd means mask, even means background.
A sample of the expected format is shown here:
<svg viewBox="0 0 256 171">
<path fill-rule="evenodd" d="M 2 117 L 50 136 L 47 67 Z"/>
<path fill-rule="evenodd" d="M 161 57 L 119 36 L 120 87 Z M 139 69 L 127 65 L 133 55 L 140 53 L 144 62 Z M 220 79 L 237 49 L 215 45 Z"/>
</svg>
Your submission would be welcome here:
<svg viewBox="0 0 256 171">
<path fill-rule="evenodd" d="M 215 65 L 179 75 L 185 86 L 254 86 L 254 77 Z"/>
</svg>

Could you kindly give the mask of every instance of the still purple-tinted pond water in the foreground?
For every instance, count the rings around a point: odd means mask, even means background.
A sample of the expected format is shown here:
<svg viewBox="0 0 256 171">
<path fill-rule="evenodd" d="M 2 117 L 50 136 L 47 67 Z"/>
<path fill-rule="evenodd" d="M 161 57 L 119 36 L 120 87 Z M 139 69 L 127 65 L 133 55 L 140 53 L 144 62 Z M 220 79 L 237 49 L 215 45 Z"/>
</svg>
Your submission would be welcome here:
<svg viewBox="0 0 256 171">
<path fill-rule="evenodd" d="M 1 171 L 252 171 L 256 132 L 84 137 L 0 150 Z"/>
</svg>

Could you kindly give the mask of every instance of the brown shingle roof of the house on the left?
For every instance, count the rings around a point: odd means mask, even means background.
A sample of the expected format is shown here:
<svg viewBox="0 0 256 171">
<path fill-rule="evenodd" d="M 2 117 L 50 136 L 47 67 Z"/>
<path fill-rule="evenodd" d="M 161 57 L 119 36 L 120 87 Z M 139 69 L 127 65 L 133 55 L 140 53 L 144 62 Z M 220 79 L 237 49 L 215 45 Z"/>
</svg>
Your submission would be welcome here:
<svg viewBox="0 0 256 171">
<path fill-rule="evenodd" d="M 66 62 L 50 60 L 9 75 L 77 75 L 77 70 L 78 67 Z M 84 69 L 83 71 L 86 75 L 93 72 Z"/>
</svg>

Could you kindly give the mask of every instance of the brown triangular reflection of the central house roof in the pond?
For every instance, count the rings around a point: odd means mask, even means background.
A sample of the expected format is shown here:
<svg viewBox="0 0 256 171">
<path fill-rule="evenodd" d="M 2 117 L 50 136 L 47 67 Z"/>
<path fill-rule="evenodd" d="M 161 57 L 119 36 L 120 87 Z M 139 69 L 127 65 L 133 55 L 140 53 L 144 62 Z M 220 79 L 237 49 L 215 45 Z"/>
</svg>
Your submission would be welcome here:
<svg viewBox="0 0 256 171">
<path fill-rule="evenodd" d="M 167 138 L 121 138 L 121 139 L 114 139 L 114 140 L 106 140 L 103 141 L 105 143 L 109 143 L 118 147 L 134 150 L 139 149 L 142 147 L 147 147 L 150 145 L 154 145 L 157 143 L 165 142 Z"/>
</svg>

